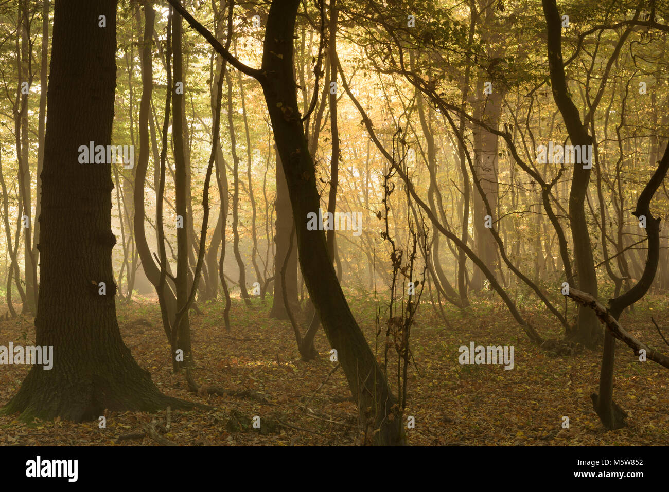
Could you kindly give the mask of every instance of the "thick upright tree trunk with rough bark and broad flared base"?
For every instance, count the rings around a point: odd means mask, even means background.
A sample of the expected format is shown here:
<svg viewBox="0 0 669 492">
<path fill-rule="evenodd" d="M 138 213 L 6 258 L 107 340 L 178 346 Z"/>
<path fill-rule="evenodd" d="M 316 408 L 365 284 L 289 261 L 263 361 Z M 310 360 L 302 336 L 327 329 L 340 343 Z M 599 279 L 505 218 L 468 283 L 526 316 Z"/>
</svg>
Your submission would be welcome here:
<svg viewBox="0 0 669 492">
<path fill-rule="evenodd" d="M 98 16 L 106 27 L 98 27 Z M 111 166 L 80 164 L 78 148 L 111 144 L 116 87 L 116 0 L 57 0 L 41 175 L 37 345 L 5 412 L 81 421 L 112 411 L 192 406 L 163 396 L 123 344 L 116 321 Z M 100 282 L 106 283 L 101 295 Z"/>
</svg>

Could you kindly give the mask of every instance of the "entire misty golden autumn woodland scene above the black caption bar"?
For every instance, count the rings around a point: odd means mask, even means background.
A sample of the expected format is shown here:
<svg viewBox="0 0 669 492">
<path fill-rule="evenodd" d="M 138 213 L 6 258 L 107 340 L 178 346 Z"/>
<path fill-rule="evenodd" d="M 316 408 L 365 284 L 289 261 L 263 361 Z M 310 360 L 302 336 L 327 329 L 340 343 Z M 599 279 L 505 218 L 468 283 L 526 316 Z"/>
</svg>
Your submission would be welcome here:
<svg viewBox="0 0 669 492">
<path fill-rule="evenodd" d="M 0 443 L 666 443 L 668 35 L 659 0 L 0 1 L 0 344 L 75 361 L 0 366 Z"/>
</svg>

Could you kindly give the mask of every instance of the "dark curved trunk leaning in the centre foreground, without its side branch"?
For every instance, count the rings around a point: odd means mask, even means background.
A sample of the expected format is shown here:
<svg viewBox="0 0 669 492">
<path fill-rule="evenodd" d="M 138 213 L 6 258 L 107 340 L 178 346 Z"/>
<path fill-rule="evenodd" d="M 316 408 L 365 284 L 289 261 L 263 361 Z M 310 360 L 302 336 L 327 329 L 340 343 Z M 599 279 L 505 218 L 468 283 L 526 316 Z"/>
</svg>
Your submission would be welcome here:
<svg viewBox="0 0 669 492">
<path fill-rule="evenodd" d="M 293 35 L 298 5 L 299 0 L 272 2 L 262 57 L 263 72 L 272 76 L 261 77 L 261 80 L 274 140 L 288 182 L 302 274 L 330 345 L 337 350 L 361 418 L 378 429 L 373 441 L 380 445 L 397 445 L 404 441 L 402 422 L 393 418 L 397 399 L 351 313 L 332 267 L 323 231 L 306 228 L 307 214 L 318 210 L 320 197 L 314 160 L 300 122 L 293 78 Z"/>
</svg>

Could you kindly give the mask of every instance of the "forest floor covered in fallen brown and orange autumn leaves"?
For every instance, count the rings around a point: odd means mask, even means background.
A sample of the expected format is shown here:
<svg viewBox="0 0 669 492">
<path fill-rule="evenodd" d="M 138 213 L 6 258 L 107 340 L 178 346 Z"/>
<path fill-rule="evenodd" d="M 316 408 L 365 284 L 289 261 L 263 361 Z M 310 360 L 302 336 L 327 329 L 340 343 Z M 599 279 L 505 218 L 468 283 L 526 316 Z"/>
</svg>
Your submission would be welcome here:
<svg viewBox="0 0 669 492">
<path fill-rule="evenodd" d="M 351 309 L 372 350 L 375 348 L 373 294 L 350 292 Z M 517 299 L 524 316 L 545 338 L 561 338 L 561 327 L 538 305 Z M 138 364 L 151 372 L 165 394 L 215 406 L 216 410 L 171 412 L 164 437 L 179 445 L 355 445 L 360 443 L 357 407 L 341 368 L 330 362 L 330 346 L 322 332 L 316 337 L 320 358 L 302 362 L 287 321 L 268 318 L 271 299 L 253 300 L 247 308 L 233 299 L 231 331 L 223 328 L 223 303 L 200 303 L 203 315 L 191 312 L 193 377 L 201 386 L 231 390 L 225 396 L 189 392 L 183 375 L 173 375 L 169 345 L 153 299 L 136 297 L 117 306 L 123 340 Z M 629 426 L 605 432 L 592 408 L 598 392 L 600 352 L 581 350 L 558 356 L 532 344 L 508 314 L 492 300 L 474 302 L 472 312 L 446 307 L 452 328 L 428 303 L 420 306 L 411 329 L 415 366 L 409 367 L 406 416 L 415 418 L 407 430 L 410 445 L 666 445 L 669 442 L 669 371 L 639 362 L 618 342 L 614 399 L 628 412 Z M 574 307 L 569 305 L 569 316 Z M 650 322 L 651 316 L 669 338 L 669 299 L 648 297 L 622 325 L 646 344 L 669 352 Z M 0 345 L 31 345 L 32 320 L 0 322 Z M 460 365 L 458 348 L 476 345 L 514 346 L 514 368 L 502 365 Z M 383 364 L 383 334 L 378 359 Z M 389 372 L 397 364 L 391 358 Z M 417 372 L 416 367 L 419 372 Z M 17 391 L 29 366 L 0 366 L 0 406 Z M 395 380 L 396 380 L 396 376 Z M 326 379 L 327 382 L 318 389 Z M 393 376 L 391 376 L 393 379 Z M 248 391 L 246 391 L 248 390 Z M 234 391 L 237 391 L 236 393 Z M 253 416 L 260 416 L 260 429 Z M 563 416 L 569 428 L 562 428 Z M 74 424 L 56 419 L 19 422 L 0 416 L 0 445 L 154 445 L 140 437 L 144 426 L 166 412 L 110 412 L 106 428 L 98 421 Z M 132 439 L 122 435 L 136 434 Z"/>
</svg>

